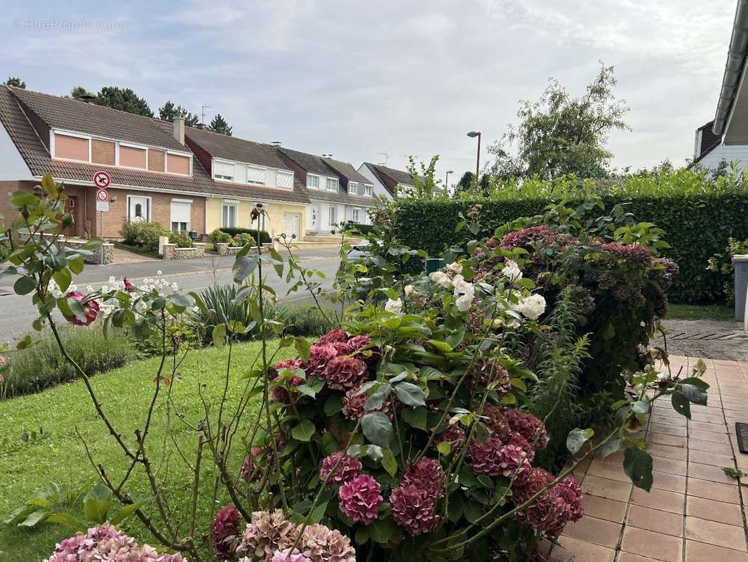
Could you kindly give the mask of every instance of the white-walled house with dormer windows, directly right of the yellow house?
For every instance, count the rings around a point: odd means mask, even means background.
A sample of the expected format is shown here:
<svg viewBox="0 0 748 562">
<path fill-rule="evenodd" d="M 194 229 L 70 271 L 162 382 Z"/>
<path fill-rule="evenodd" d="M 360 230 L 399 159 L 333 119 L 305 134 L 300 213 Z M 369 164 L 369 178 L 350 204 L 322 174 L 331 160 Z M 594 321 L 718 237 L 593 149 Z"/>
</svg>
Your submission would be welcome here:
<svg viewBox="0 0 748 562">
<path fill-rule="evenodd" d="M 277 147 L 307 191 L 306 234 L 326 235 L 339 223 L 369 224 L 373 184 L 349 163 Z"/>
</svg>

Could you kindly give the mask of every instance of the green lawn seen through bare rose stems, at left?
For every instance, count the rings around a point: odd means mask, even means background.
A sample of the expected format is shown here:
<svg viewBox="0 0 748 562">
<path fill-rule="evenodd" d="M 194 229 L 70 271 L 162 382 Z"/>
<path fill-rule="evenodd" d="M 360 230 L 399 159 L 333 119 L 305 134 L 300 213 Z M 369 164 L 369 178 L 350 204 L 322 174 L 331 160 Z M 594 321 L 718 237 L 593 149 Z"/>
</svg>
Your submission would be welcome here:
<svg viewBox="0 0 748 562">
<path fill-rule="evenodd" d="M 257 342 L 235 345 L 232 356 L 230 396 L 232 402 L 241 396 L 246 381 L 241 375 L 247 372 L 257 358 L 260 345 Z M 292 351 L 283 349 L 278 358 L 289 357 Z M 192 425 L 203 417 L 203 407 L 197 395 L 197 387 L 204 384 L 203 393 L 209 403 L 216 404 L 223 390 L 228 348 L 208 348 L 194 351 L 179 369 L 182 381 L 172 385 L 172 398 L 178 412 L 183 413 Z M 153 377 L 158 358 L 131 363 L 91 379 L 103 408 L 115 428 L 130 443 L 133 431 L 142 426 L 141 420 L 147 411 L 152 396 Z M 166 451 L 165 462 L 160 468 L 159 479 L 165 483 L 169 501 L 176 507 L 188 505 L 190 494 L 186 486 L 191 481 L 188 469 L 182 462 L 176 447 L 166 439 L 165 393 L 159 399 L 149 438 L 149 454 L 160 459 Z M 248 419 L 254 412 L 248 412 Z M 183 451 L 194 451 L 197 435 L 173 416 L 175 440 Z M 82 442 L 76 436 L 80 432 L 97 463 L 101 463 L 113 475 L 123 474 L 126 459 L 122 451 L 96 417 L 91 399 L 82 381 L 46 390 L 31 396 L 22 396 L 0 402 L 0 438 L 10 436 L 16 440 L 22 431 L 43 427 L 52 432 L 52 438 L 23 447 L 16 453 L 3 455 L 0 452 L 0 520 L 5 519 L 14 507 L 21 504 L 31 493 L 51 480 L 58 484 L 81 483 L 95 475 L 88 461 Z M 188 459 L 190 456 L 187 454 Z M 236 459 L 237 468 L 241 459 Z M 209 522 L 215 506 L 212 505 L 212 488 L 215 471 L 209 456 L 203 458 L 201 481 L 203 485 L 199 499 L 201 524 L 199 534 L 209 531 Z M 150 497 L 143 474 L 138 474 L 129 484 L 127 492 L 135 499 Z M 227 503 L 219 495 L 218 504 Z M 218 506 L 220 507 L 220 506 Z M 114 510 L 116 513 L 116 510 Z M 135 517 L 127 520 L 130 534 L 141 542 L 154 545 L 154 541 L 141 528 Z M 70 536 L 72 531 L 60 525 L 40 525 L 35 531 L 18 528 L 0 528 L 0 561 L 40 561 L 48 557 L 55 543 Z M 155 546 L 155 545 L 154 545 Z M 206 551 L 208 546 L 206 544 Z"/>
</svg>

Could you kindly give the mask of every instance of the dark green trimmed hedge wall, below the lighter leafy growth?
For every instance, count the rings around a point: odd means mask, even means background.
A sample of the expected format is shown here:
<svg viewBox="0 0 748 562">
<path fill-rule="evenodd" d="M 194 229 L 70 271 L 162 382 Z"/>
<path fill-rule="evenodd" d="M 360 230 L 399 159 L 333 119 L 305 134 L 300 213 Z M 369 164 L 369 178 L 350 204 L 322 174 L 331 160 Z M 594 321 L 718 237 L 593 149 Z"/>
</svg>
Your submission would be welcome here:
<svg viewBox="0 0 748 562">
<path fill-rule="evenodd" d="M 497 226 L 519 217 L 540 214 L 551 199 L 504 201 L 405 202 L 398 211 L 396 236 L 406 246 L 441 256 L 447 247 L 465 241 L 465 232 L 455 232 L 458 213 L 470 205 L 482 205 L 480 237 L 491 235 Z M 720 195 L 672 195 L 631 197 L 608 196 L 607 208 L 625 203 L 637 221 L 654 223 L 666 232 L 671 245 L 663 255 L 678 263 L 681 273 L 668 291 L 673 302 L 717 303 L 725 300 L 720 277 L 707 271 L 707 260 L 722 252 L 727 239 L 748 238 L 748 193 Z"/>
</svg>

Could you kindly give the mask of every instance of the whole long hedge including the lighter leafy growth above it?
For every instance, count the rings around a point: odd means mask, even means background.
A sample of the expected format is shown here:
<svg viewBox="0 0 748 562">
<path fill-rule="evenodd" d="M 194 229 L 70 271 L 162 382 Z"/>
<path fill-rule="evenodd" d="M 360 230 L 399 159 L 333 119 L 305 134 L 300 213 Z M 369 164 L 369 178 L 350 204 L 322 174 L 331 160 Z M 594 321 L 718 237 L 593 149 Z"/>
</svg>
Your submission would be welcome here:
<svg viewBox="0 0 748 562">
<path fill-rule="evenodd" d="M 497 184 L 491 197 L 462 197 L 458 201 L 405 201 L 399 204 L 394 232 L 409 247 L 423 248 L 429 256 L 443 256 L 462 240 L 455 232 L 459 213 L 477 207 L 481 232 L 490 235 L 498 226 L 519 217 L 542 213 L 548 202 L 579 201 L 585 192 L 600 193 L 608 211 L 625 205 L 637 220 L 657 224 L 667 234 L 670 248 L 663 256 L 681 268 L 669 290 L 680 303 L 714 303 L 725 300 L 725 280 L 707 271 L 705 256 L 723 253 L 729 238 L 748 238 L 748 184 L 733 170 L 712 181 L 707 172 L 678 170 L 657 175 L 631 175 L 620 182 L 596 185 L 574 178 L 554 181 L 529 179 Z"/>
</svg>

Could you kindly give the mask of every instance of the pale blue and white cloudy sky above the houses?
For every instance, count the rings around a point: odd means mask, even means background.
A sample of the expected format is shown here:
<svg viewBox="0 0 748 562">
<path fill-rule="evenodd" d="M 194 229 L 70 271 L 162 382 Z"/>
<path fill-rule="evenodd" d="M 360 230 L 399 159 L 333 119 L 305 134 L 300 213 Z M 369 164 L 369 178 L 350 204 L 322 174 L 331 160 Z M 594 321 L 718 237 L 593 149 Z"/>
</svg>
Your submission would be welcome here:
<svg viewBox="0 0 748 562">
<path fill-rule="evenodd" d="M 610 139 L 615 165 L 683 163 L 714 115 L 735 13 L 735 0 L 3 4 L 0 69 L 29 89 L 126 86 L 154 112 L 205 103 L 235 136 L 357 167 L 439 154 L 450 180 L 475 167 L 468 130 L 485 147 L 518 100 L 551 76 L 581 94 L 600 60 L 631 107 L 632 131 Z"/>
</svg>

